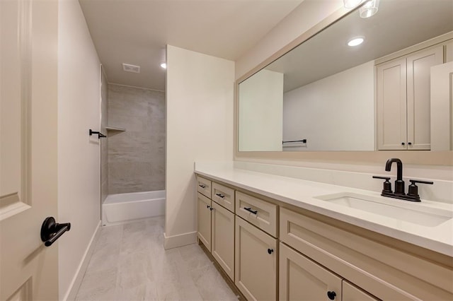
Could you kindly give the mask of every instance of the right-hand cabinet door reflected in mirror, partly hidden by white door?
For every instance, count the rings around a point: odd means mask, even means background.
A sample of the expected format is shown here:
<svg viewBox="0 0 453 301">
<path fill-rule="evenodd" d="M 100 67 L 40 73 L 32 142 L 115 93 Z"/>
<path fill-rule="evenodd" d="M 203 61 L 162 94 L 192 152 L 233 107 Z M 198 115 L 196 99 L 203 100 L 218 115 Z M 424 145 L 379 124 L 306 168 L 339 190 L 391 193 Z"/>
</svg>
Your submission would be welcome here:
<svg viewBox="0 0 453 301">
<path fill-rule="evenodd" d="M 443 55 L 441 45 L 407 57 L 408 150 L 430 150 L 430 73 Z"/>
</svg>

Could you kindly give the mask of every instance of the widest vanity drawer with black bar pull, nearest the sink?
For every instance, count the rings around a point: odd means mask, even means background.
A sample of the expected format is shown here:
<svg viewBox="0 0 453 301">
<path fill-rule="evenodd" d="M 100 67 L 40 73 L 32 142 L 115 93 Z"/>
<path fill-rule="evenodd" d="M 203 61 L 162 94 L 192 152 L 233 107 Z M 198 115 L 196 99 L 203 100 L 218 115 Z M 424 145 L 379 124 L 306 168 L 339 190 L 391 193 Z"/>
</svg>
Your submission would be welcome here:
<svg viewBox="0 0 453 301">
<path fill-rule="evenodd" d="M 236 215 L 277 237 L 277 205 L 236 191 Z"/>
</svg>

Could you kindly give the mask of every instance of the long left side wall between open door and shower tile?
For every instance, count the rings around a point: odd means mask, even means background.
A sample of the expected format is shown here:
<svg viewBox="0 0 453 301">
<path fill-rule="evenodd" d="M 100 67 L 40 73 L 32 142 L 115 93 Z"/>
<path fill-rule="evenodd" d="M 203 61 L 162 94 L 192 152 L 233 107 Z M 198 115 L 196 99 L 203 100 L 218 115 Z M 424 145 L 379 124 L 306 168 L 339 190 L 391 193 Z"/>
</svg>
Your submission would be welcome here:
<svg viewBox="0 0 453 301">
<path fill-rule="evenodd" d="M 59 1 L 57 221 L 71 223 L 58 240 L 60 300 L 76 286 L 101 220 L 100 143 L 88 136 L 101 126 L 100 71 L 79 1 Z"/>
</svg>

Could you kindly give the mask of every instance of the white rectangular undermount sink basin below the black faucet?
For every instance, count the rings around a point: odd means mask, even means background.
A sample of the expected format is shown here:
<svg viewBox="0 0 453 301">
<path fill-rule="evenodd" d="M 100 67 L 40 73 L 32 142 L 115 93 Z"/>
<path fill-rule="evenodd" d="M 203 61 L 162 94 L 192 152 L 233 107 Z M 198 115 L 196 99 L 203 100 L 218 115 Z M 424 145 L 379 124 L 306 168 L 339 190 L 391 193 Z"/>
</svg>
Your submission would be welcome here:
<svg viewBox="0 0 453 301">
<path fill-rule="evenodd" d="M 426 227 L 436 227 L 453 218 L 451 209 L 433 208 L 425 206 L 423 203 L 387 199 L 382 196 L 340 192 L 338 194 L 315 196 L 314 198 Z"/>
</svg>

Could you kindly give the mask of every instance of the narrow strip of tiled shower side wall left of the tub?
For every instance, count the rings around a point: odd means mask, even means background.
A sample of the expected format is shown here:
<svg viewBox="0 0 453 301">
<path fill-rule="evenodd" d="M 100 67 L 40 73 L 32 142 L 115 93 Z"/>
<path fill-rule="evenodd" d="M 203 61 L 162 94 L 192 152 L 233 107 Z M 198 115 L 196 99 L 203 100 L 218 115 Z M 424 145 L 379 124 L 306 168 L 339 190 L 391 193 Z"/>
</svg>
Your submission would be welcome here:
<svg viewBox="0 0 453 301">
<path fill-rule="evenodd" d="M 102 73 L 101 82 L 101 133 L 107 134 L 105 126 L 108 124 L 108 85 L 105 74 Z M 108 195 L 108 140 L 101 138 L 101 203 Z"/>
</svg>

